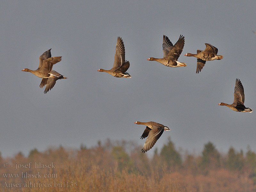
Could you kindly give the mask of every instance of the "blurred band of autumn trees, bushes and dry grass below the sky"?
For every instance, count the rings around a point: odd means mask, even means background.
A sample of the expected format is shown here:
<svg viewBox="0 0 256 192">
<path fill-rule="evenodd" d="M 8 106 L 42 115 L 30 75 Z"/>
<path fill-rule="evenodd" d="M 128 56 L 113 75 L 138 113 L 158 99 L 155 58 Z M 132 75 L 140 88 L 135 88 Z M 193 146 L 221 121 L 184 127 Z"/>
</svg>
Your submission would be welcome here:
<svg viewBox="0 0 256 192">
<path fill-rule="evenodd" d="M 39 152 L 31 150 L 28 157 L 18 153 L 12 158 L 0 157 L 0 163 L 13 165 L 0 168 L 3 191 L 256 191 L 256 154 L 249 147 L 244 153 L 230 148 L 221 154 L 212 142 L 204 144 L 200 155 L 181 154 L 169 138 L 154 155 L 141 153 L 141 146 L 127 141 L 110 141 L 80 149 L 50 148 Z M 18 168 L 15 164 L 28 164 L 31 168 Z M 56 168 L 35 169 L 34 163 L 54 163 Z M 3 173 L 56 174 L 54 178 L 4 178 Z M 6 183 L 40 182 L 46 187 L 6 188 Z M 64 182 L 64 183 L 63 183 Z M 76 187 L 63 188 L 63 184 L 76 182 Z M 56 183 L 62 186 L 56 187 Z M 51 187 L 49 187 L 51 184 Z M 55 186 L 54 186 L 55 184 Z M 4 186 L 5 185 L 5 186 Z M 4 186 L 4 188 L 3 188 Z M 44 185 L 46 186 L 46 185 Z"/>
</svg>

